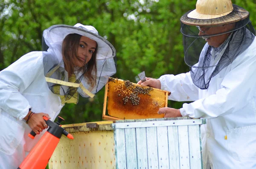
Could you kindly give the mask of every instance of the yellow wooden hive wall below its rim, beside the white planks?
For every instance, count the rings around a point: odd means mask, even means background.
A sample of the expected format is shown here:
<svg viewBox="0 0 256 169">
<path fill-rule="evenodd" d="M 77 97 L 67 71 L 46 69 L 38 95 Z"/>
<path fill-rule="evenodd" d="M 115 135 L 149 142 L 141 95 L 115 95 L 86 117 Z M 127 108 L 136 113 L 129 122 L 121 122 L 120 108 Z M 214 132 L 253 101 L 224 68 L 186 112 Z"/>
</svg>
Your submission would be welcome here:
<svg viewBox="0 0 256 169">
<path fill-rule="evenodd" d="M 49 160 L 49 169 L 116 169 L 113 130 L 72 135 L 74 140 L 61 137 Z"/>
</svg>

